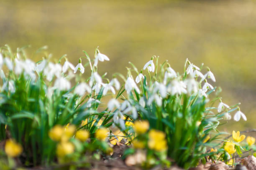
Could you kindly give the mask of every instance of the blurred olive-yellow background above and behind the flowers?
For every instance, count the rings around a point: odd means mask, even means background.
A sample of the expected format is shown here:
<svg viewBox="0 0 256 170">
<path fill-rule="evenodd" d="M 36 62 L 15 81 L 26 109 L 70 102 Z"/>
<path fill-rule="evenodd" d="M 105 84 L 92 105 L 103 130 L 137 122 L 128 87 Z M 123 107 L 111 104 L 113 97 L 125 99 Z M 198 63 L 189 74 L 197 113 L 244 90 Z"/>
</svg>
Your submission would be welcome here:
<svg viewBox="0 0 256 170">
<path fill-rule="evenodd" d="M 32 45 L 33 53 L 48 45 L 74 64 L 100 46 L 110 61 L 99 72 L 108 75 L 124 74 L 128 61 L 140 69 L 152 55 L 179 72 L 186 58 L 203 62 L 223 102 L 241 102 L 248 117 L 222 129 L 245 130 L 256 128 L 255 9 L 254 0 L 0 0 L 0 46 Z"/>
</svg>

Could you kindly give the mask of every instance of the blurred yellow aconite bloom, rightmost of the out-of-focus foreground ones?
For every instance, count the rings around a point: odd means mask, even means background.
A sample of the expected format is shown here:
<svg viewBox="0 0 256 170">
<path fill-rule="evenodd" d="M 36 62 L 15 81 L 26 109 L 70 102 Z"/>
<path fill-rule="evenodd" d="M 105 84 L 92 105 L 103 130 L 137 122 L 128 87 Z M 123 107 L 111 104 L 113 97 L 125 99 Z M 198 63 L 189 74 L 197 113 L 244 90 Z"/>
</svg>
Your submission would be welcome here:
<svg viewBox="0 0 256 170">
<path fill-rule="evenodd" d="M 165 134 L 159 130 L 150 130 L 148 133 L 148 147 L 156 151 L 164 151 L 167 149 Z"/>
</svg>

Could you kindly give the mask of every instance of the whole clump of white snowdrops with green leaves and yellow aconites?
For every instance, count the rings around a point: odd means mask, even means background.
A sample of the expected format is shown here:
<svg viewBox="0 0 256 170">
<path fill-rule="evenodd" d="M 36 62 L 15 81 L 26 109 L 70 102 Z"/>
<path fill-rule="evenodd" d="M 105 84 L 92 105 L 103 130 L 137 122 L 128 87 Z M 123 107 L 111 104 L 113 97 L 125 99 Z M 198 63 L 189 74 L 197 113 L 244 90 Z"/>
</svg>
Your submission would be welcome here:
<svg viewBox="0 0 256 170">
<path fill-rule="evenodd" d="M 113 146 L 127 145 L 121 158 L 128 166 L 190 168 L 209 160 L 230 163 L 235 154 L 256 150 L 255 138 L 240 143 L 245 136 L 239 131 L 233 140 L 219 137 L 225 134 L 217 130 L 220 121 L 246 115 L 238 104 L 223 103 L 203 64 L 186 60 L 179 74 L 153 56 L 143 69 L 129 62 L 127 75 L 108 79 L 97 67 L 109 58 L 98 48 L 94 60 L 83 52 L 74 66 L 67 55 L 51 62 L 46 47 L 35 52 L 43 56 L 36 63 L 25 47 L 0 48 L 0 141 L 7 155 L 1 162 L 90 166 L 90 160 L 111 158 Z"/>
</svg>

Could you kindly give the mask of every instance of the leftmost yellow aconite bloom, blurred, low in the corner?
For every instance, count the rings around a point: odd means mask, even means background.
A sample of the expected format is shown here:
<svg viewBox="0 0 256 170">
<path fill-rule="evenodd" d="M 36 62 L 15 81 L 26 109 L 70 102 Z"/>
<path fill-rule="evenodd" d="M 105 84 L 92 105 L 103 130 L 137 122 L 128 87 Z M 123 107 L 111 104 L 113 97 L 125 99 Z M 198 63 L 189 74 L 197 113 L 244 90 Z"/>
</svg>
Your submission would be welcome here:
<svg viewBox="0 0 256 170">
<path fill-rule="evenodd" d="M 16 143 L 12 139 L 8 139 L 5 142 L 5 153 L 10 157 L 16 157 L 22 153 L 23 148 L 19 143 Z"/>
</svg>

